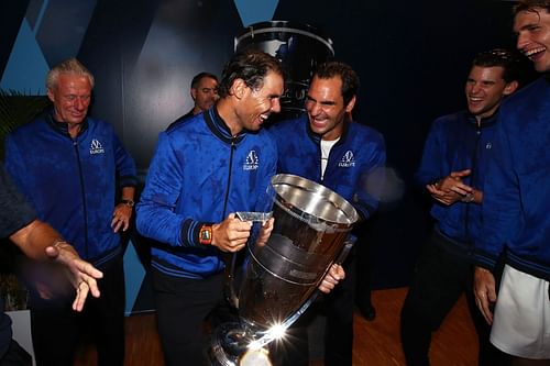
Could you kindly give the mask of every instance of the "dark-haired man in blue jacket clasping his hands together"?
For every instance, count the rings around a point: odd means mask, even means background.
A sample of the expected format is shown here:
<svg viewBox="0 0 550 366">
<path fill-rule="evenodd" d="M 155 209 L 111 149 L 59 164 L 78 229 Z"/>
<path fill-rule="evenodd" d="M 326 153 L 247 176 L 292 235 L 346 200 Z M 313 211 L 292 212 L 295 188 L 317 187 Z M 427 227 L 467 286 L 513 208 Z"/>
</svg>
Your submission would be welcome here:
<svg viewBox="0 0 550 366">
<path fill-rule="evenodd" d="M 468 110 L 437 119 L 428 134 L 416 180 L 433 199 L 436 223 L 402 310 L 403 350 L 410 366 L 430 364 L 431 333 L 464 291 L 479 335 L 480 365 L 502 365 L 473 304 L 472 251 L 482 225 L 497 111 L 518 87 L 517 60 L 505 49 L 479 54 L 464 87 Z"/>
</svg>

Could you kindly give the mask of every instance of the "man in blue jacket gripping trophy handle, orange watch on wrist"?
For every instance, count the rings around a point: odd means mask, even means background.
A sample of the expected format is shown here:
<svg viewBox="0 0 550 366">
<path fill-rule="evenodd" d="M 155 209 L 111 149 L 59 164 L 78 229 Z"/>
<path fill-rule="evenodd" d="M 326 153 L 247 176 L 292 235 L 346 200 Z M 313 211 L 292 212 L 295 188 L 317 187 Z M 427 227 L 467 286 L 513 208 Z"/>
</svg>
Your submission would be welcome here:
<svg viewBox="0 0 550 366">
<path fill-rule="evenodd" d="M 226 306 L 223 253 L 246 244 L 235 211 L 266 211 L 276 147 L 262 123 L 280 110 L 283 70 L 260 52 L 235 55 L 215 108 L 161 133 L 138 206 L 152 248 L 158 332 L 166 365 L 206 365 L 204 320 Z"/>
</svg>

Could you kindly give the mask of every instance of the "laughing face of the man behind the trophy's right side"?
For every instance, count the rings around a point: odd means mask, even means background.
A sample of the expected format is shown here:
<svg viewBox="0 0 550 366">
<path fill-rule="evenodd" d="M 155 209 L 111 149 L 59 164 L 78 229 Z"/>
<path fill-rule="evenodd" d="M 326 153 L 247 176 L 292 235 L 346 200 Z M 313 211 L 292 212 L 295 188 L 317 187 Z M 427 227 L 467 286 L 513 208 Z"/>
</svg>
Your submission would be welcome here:
<svg viewBox="0 0 550 366">
<path fill-rule="evenodd" d="M 337 140 L 342 134 L 345 113 L 351 112 L 354 104 L 355 97 L 344 104 L 340 77 L 314 77 L 306 100 L 311 130 L 322 140 Z"/>
</svg>

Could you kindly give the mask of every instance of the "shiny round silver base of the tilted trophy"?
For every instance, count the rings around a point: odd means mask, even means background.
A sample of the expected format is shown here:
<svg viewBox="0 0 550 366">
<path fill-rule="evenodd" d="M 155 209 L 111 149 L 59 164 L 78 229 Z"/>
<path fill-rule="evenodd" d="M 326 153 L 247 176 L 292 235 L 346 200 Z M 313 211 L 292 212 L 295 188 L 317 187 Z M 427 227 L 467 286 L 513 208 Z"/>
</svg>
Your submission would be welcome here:
<svg viewBox="0 0 550 366">
<path fill-rule="evenodd" d="M 238 322 L 223 323 L 212 332 L 208 356 L 215 366 L 271 366 L 264 348 L 250 350 L 253 336 Z"/>
</svg>

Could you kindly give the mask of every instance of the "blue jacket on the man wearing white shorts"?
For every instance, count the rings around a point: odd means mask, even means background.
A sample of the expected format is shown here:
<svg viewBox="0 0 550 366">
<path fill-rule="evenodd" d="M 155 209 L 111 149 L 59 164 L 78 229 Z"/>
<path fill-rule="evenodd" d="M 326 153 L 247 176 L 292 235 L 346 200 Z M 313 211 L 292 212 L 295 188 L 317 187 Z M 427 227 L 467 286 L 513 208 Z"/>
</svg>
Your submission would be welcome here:
<svg viewBox="0 0 550 366">
<path fill-rule="evenodd" d="M 510 266 L 550 280 L 550 79 L 540 78 L 501 107 L 495 164 L 483 198 L 477 263 Z"/>
</svg>

